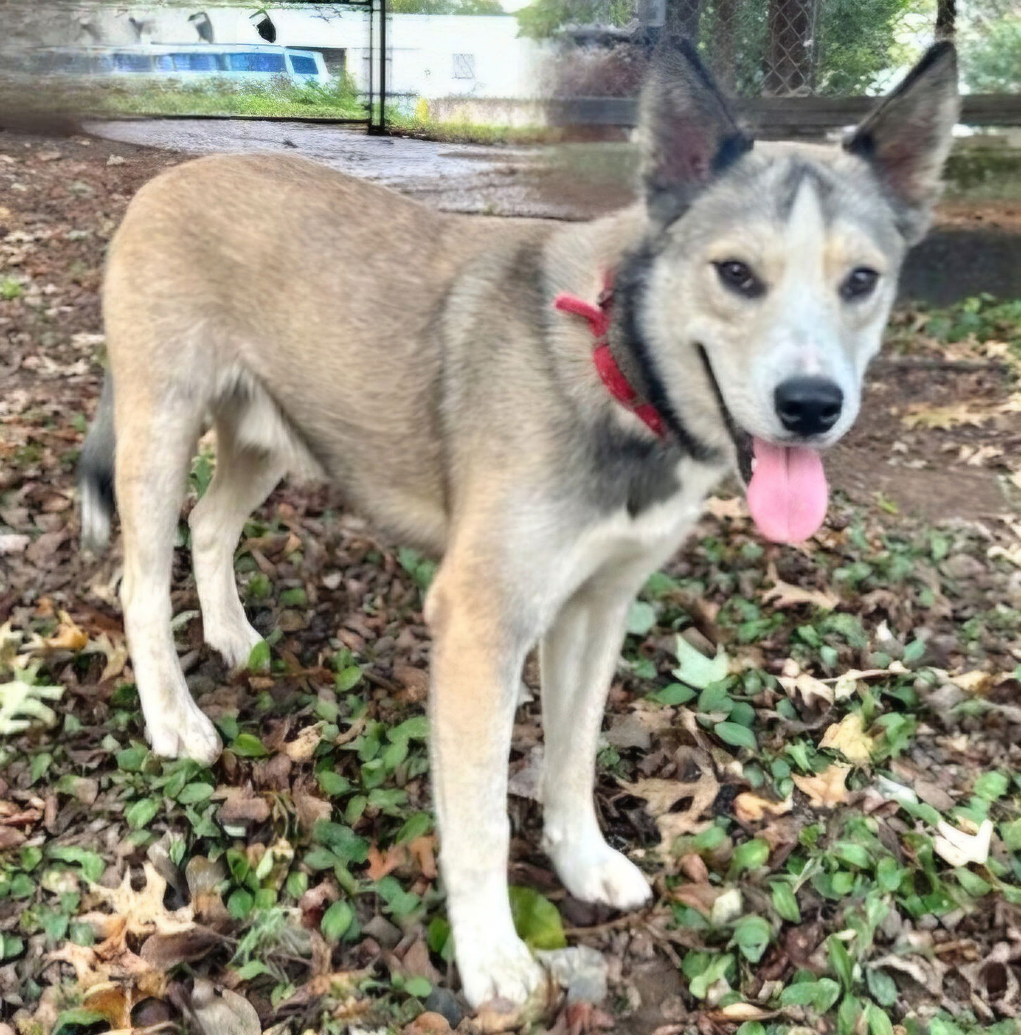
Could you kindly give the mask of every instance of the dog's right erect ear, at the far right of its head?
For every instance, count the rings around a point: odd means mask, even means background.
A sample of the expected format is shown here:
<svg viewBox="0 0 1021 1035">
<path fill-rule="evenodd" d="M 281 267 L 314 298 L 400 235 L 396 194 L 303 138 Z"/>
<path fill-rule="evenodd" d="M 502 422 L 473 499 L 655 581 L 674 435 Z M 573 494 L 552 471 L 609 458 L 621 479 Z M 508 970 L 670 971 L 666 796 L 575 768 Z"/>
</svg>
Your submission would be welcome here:
<svg viewBox="0 0 1021 1035">
<path fill-rule="evenodd" d="M 957 54 L 944 40 L 929 48 L 844 144 L 872 165 L 899 206 L 902 232 L 912 244 L 928 229 L 939 198 L 959 111 Z"/>
</svg>

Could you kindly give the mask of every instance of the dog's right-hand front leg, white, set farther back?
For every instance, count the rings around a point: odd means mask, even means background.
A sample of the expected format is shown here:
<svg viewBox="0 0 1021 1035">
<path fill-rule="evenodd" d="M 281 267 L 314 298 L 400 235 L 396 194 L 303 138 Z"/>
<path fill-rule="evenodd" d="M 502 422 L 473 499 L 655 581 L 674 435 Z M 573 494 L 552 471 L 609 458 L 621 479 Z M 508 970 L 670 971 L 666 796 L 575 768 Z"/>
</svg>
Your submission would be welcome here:
<svg viewBox="0 0 1021 1035">
<path fill-rule="evenodd" d="M 596 576 L 563 605 L 539 646 L 544 844 L 573 895 L 616 909 L 650 894 L 638 867 L 604 839 L 592 794 L 606 696 L 641 583 L 634 574 Z"/>
</svg>

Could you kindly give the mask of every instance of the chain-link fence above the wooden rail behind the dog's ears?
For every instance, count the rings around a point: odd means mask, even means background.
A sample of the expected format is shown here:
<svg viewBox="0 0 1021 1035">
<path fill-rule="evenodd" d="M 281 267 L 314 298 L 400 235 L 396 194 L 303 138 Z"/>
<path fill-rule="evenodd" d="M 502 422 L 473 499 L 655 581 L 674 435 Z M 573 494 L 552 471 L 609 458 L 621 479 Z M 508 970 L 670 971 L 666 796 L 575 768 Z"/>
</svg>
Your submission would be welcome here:
<svg viewBox="0 0 1021 1035">
<path fill-rule="evenodd" d="M 880 95 L 945 37 L 958 40 L 965 92 L 1021 91 L 1021 0 L 660 0 L 659 7 L 638 0 L 625 20 L 619 0 L 588 3 L 590 24 L 562 30 L 551 95 L 634 95 L 664 32 L 694 40 L 723 87 L 741 97 Z"/>
</svg>

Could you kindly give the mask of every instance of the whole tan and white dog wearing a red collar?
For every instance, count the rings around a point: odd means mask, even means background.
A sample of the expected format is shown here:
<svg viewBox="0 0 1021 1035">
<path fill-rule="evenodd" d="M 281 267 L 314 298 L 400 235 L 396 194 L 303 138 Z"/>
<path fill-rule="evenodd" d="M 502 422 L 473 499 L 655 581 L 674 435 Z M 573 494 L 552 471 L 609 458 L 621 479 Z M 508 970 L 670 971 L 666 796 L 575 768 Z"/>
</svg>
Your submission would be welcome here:
<svg viewBox="0 0 1021 1035">
<path fill-rule="evenodd" d="M 171 633 L 171 560 L 197 439 L 215 474 L 189 516 L 206 642 L 260 635 L 233 554 L 289 471 L 442 561 L 431 755 L 464 994 L 525 1001 L 544 971 L 506 889 L 506 763 L 539 648 L 544 845 L 566 889 L 650 896 L 593 803 L 629 604 L 729 472 L 769 539 L 811 535 L 820 451 L 851 426 L 908 247 L 938 197 L 956 57 L 935 45 L 842 145 L 753 146 L 694 49 L 664 46 L 639 102 L 640 194 L 587 224 L 432 211 L 292 156 L 200 158 L 130 203 L 104 287 L 109 352 L 81 461 L 84 541 L 110 534 L 152 749 L 212 763 Z"/>
</svg>

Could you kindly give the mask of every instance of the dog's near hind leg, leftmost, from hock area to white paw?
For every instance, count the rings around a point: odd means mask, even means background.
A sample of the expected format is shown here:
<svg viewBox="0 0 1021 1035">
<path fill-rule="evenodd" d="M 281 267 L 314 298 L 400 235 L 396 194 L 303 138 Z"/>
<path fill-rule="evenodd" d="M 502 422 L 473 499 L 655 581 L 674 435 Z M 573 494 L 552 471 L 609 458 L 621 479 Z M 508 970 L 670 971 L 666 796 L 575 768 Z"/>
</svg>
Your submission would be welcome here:
<svg viewBox="0 0 1021 1035">
<path fill-rule="evenodd" d="M 174 537 L 201 407 L 183 387 L 161 392 L 138 372 L 135 379 L 139 390 L 115 396 L 127 645 L 153 751 L 209 764 L 220 753 L 220 738 L 192 700 L 170 624 Z"/>
</svg>

